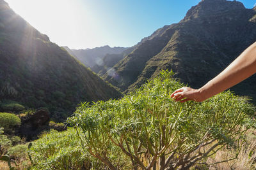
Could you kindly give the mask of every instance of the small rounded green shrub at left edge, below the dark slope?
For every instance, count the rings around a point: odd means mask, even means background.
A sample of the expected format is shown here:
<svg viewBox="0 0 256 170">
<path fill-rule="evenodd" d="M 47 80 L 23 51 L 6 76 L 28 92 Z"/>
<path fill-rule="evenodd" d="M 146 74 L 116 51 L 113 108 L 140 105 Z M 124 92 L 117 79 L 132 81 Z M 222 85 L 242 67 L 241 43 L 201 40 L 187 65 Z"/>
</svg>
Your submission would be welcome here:
<svg viewBox="0 0 256 170">
<path fill-rule="evenodd" d="M 0 127 L 4 128 L 4 132 L 13 132 L 15 127 L 20 125 L 20 118 L 13 113 L 0 113 Z"/>
</svg>

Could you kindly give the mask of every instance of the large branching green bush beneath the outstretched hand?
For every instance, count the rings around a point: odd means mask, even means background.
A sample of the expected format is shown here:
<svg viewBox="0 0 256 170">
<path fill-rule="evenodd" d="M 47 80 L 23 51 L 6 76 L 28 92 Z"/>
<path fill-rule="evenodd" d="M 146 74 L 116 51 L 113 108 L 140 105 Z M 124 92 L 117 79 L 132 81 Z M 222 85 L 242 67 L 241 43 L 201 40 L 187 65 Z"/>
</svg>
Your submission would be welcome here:
<svg viewBox="0 0 256 170">
<path fill-rule="evenodd" d="M 221 148 L 239 152 L 253 106 L 231 92 L 176 103 L 170 94 L 183 85 L 172 76 L 163 71 L 120 100 L 81 104 L 68 123 L 82 129 L 84 150 L 109 169 L 189 169 Z"/>
</svg>

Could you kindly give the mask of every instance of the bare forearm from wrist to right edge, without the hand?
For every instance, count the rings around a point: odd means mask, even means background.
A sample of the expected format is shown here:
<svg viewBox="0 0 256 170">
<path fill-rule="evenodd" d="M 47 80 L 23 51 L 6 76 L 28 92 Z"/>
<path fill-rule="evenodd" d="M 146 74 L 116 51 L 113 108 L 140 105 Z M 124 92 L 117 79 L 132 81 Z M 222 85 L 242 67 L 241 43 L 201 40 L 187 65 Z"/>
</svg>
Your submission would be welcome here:
<svg viewBox="0 0 256 170">
<path fill-rule="evenodd" d="M 205 99 L 226 90 L 256 73 L 256 42 L 249 46 L 224 71 L 200 88 Z"/>
</svg>

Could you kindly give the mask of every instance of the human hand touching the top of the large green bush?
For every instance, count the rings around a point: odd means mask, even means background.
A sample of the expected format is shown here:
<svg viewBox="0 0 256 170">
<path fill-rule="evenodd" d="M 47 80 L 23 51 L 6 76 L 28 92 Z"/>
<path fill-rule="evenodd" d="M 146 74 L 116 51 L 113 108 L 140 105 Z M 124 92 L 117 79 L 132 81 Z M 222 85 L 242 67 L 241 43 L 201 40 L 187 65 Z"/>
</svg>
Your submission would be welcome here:
<svg viewBox="0 0 256 170">
<path fill-rule="evenodd" d="M 180 101 L 180 103 L 184 103 L 186 101 L 201 102 L 205 100 L 202 92 L 199 89 L 192 89 L 190 87 L 182 87 L 175 90 L 171 94 L 171 97 L 175 99 L 175 101 Z"/>
</svg>

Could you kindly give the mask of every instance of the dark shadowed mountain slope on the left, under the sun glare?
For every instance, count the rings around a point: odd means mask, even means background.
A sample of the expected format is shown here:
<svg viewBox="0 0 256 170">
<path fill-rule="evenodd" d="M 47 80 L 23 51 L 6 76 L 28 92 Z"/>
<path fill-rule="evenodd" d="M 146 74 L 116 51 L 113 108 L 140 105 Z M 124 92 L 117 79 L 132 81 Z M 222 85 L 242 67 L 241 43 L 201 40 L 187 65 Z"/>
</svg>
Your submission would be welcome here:
<svg viewBox="0 0 256 170">
<path fill-rule="evenodd" d="M 0 104 L 47 107 L 67 117 L 82 101 L 122 96 L 0 0 Z"/>
</svg>

